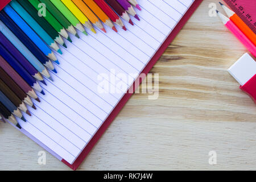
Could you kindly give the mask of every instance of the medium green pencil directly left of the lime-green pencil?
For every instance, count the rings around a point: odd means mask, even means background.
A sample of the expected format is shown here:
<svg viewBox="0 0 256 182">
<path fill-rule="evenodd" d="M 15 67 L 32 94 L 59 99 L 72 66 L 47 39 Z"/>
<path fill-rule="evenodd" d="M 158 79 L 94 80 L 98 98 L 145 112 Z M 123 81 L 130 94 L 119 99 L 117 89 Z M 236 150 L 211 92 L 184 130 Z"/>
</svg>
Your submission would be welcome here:
<svg viewBox="0 0 256 182">
<path fill-rule="evenodd" d="M 60 13 L 60 11 L 51 3 L 51 1 L 40 0 L 40 2 L 46 5 L 46 8 L 49 11 L 49 13 L 51 13 L 68 32 L 79 38 L 79 35 L 77 34 L 73 25 L 68 21 L 67 18 L 65 18 L 63 14 Z"/>
</svg>

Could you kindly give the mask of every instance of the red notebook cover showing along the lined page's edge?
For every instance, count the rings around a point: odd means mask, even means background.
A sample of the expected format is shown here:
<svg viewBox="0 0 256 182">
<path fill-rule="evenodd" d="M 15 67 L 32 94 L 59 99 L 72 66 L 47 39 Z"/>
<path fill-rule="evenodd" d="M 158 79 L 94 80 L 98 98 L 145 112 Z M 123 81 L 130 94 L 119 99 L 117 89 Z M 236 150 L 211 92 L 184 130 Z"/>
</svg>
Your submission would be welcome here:
<svg viewBox="0 0 256 182">
<path fill-rule="evenodd" d="M 3 9 L 11 0 L 1 0 L 0 2 L 0 10 Z M 179 33 L 181 28 L 184 26 L 184 24 L 188 21 L 188 19 L 191 17 L 191 15 L 195 12 L 197 7 L 200 5 L 200 3 L 203 0 L 195 0 L 193 5 L 189 8 L 187 13 L 183 16 L 183 18 L 180 20 L 180 22 L 176 25 L 174 30 L 171 32 L 171 34 L 168 36 L 168 38 L 165 40 L 165 42 L 162 44 L 162 46 L 158 49 L 158 52 L 155 53 L 155 55 L 152 57 L 152 59 L 149 61 L 147 66 L 144 68 L 142 73 L 147 74 L 150 72 L 151 68 L 155 65 L 156 61 L 160 58 L 160 56 L 163 55 L 164 51 L 167 49 L 167 47 L 170 45 L 172 40 L 176 37 L 176 35 Z M 141 83 L 142 80 L 139 82 Z M 138 86 L 138 85 L 137 85 Z M 133 85 L 133 90 L 135 90 L 135 84 Z M 64 164 L 72 168 L 73 170 L 76 170 L 82 161 L 85 159 L 85 157 L 89 154 L 90 150 L 94 147 L 94 145 L 97 143 L 97 141 L 100 139 L 102 134 L 108 129 L 110 123 L 113 122 L 114 118 L 117 116 L 119 111 L 125 106 L 126 102 L 129 100 L 129 98 L 132 96 L 131 93 L 126 93 L 125 96 L 123 96 L 122 100 L 118 103 L 118 105 L 115 107 L 115 109 L 112 111 L 112 113 L 109 115 L 109 117 L 106 119 L 106 121 L 102 124 L 100 129 L 98 129 L 97 133 L 93 136 L 93 138 L 90 140 L 90 142 L 87 144 L 87 146 L 84 148 L 84 150 L 81 152 L 79 157 L 75 160 L 73 164 L 69 164 L 64 159 L 61 160 Z"/>
</svg>

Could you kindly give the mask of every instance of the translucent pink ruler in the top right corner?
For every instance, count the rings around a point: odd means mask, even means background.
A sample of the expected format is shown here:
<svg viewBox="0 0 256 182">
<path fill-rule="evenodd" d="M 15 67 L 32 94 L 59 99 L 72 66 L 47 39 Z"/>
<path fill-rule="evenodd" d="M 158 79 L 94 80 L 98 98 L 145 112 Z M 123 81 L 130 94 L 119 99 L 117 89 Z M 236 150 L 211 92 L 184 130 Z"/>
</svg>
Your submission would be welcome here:
<svg viewBox="0 0 256 182">
<path fill-rule="evenodd" d="M 224 0 L 256 34 L 256 0 Z"/>
</svg>

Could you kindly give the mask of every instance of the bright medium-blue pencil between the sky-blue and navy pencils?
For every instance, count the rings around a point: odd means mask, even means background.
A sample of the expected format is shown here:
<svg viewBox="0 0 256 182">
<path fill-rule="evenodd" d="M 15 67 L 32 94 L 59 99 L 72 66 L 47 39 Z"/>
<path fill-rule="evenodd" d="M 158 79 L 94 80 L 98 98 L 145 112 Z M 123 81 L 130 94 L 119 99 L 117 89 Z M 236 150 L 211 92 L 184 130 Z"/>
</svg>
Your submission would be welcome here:
<svg viewBox="0 0 256 182">
<path fill-rule="evenodd" d="M 14 11 L 9 5 L 4 9 L 4 12 L 16 23 L 17 26 L 38 46 L 38 48 L 47 56 L 49 59 L 59 64 L 55 54 L 52 50 L 43 42 L 43 40 L 32 30 L 30 26 Z"/>
</svg>

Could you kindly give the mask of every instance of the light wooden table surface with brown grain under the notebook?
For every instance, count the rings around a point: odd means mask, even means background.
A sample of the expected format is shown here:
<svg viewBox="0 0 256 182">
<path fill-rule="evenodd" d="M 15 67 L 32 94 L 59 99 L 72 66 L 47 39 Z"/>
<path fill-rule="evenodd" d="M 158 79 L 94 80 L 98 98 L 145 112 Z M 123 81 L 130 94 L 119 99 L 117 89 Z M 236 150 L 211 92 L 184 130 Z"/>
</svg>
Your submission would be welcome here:
<svg viewBox="0 0 256 182">
<path fill-rule="evenodd" d="M 152 69 L 159 98 L 134 94 L 80 170 L 256 169 L 256 106 L 227 72 L 246 49 L 208 15 L 212 2 L 203 1 Z M 0 169 L 70 170 L 48 152 L 39 165 L 42 147 L 7 123 L 0 141 Z"/>
</svg>

